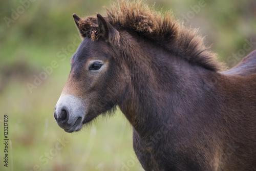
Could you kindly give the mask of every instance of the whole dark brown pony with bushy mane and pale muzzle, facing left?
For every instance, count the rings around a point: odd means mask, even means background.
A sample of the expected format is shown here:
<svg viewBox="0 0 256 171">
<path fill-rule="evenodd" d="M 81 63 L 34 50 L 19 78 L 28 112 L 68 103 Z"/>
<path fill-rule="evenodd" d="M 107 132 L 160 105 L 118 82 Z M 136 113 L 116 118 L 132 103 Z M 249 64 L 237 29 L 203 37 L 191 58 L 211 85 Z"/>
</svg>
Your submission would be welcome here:
<svg viewBox="0 0 256 171">
<path fill-rule="evenodd" d="M 83 40 L 55 107 L 58 125 L 79 131 L 119 106 L 145 170 L 256 170 L 256 51 L 222 71 L 170 12 L 120 2 L 106 13 L 73 15 Z"/>
</svg>

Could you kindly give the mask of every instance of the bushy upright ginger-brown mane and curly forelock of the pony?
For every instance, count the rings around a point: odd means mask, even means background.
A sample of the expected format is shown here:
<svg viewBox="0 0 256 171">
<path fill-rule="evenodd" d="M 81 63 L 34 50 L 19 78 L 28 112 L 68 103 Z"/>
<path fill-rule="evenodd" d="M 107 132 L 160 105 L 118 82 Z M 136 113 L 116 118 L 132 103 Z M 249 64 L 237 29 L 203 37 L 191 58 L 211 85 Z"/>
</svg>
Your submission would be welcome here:
<svg viewBox="0 0 256 171">
<path fill-rule="evenodd" d="M 105 19 L 117 30 L 135 31 L 192 65 L 211 71 L 223 69 L 223 65 L 217 61 L 217 55 L 204 45 L 198 29 L 186 28 L 180 20 L 174 18 L 171 11 L 162 15 L 154 6 L 142 4 L 142 1 L 121 1 L 117 6 L 112 5 L 110 9 L 105 9 Z M 83 37 L 91 37 L 93 40 L 101 37 L 97 17 L 80 20 L 78 28 L 83 31 Z"/>
</svg>

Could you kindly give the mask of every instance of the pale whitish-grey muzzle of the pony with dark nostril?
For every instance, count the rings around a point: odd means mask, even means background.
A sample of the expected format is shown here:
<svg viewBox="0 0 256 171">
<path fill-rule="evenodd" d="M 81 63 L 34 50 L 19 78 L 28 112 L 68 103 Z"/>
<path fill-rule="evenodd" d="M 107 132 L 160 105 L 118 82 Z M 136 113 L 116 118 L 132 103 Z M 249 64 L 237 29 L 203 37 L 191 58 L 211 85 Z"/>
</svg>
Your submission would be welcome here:
<svg viewBox="0 0 256 171">
<path fill-rule="evenodd" d="M 55 106 L 54 118 L 68 133 L 79 131 L 85 116 L 83 101 L 70 94 L 61 94 Z"/>
</svg>

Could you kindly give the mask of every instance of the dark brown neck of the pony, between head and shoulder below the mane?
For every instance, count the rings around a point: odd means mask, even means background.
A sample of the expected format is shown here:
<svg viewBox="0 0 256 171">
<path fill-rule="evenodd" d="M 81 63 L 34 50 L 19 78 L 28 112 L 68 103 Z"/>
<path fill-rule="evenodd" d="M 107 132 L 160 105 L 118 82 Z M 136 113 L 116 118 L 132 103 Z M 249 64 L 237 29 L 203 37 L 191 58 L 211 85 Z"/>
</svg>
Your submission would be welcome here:
<svg viewBox="0 0 256 171">
<path fill-rule="evenodd" d="M 126 56 L 132 74 L 119 108 L 139 135 L 147 137 L 174 123 L 182 105 L 205 91 L 203 80 L 212 72 L 151 43 L 133 45 L 136 54 Z"/>
</svg>

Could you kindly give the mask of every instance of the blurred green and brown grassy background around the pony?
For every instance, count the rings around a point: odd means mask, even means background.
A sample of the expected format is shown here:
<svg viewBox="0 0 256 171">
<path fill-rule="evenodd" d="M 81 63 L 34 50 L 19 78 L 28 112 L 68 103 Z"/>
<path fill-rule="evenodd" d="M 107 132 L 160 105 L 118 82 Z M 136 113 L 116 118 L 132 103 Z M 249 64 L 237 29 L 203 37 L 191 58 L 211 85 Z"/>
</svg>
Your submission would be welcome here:
<svg viewBox="0 0 256 171">
<path fill-rule="evenodd" d="M 256 1 L 156 0 L 158 10 L 200 28 L 228 67 L 256 49 Z M 54 106 L 81 42 L 72 14 L 105 14 L 104 0 L 0 0 L 0 170 L 142 170 L 132 128 L 120 111 L 78 133 L 54 120 Z M 59 58 L 62 55 L 65 58 Z M 52 61 L 56 61 L 55 68 Z M 43 75 L 48 69 L 48 74 Z M 44 77 L 31 86 L 35 77 Z M 31 83 L 31 84 L 30 84 Z M 8 115 L 8 167 L 4 167 L 4 115 Z"/>
</svg>

